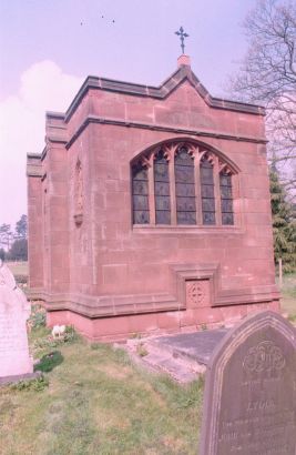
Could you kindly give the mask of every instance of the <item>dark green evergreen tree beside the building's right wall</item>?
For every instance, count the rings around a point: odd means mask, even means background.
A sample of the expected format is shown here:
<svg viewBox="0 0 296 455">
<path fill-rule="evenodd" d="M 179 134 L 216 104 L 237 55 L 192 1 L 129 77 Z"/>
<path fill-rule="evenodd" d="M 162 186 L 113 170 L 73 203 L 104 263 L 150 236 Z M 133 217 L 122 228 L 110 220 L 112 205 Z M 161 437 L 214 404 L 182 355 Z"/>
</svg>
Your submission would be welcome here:
<svg viewBox="0 0 296 455">
<path fill-rule="evenodd" d="M 284 272 L 296 270 L 296 221 L 294 208 L 287 201 L 276 166 L 271 166 L 271 200 L 273 213 L 275 261 L 283 260 Z"/>
</svg>

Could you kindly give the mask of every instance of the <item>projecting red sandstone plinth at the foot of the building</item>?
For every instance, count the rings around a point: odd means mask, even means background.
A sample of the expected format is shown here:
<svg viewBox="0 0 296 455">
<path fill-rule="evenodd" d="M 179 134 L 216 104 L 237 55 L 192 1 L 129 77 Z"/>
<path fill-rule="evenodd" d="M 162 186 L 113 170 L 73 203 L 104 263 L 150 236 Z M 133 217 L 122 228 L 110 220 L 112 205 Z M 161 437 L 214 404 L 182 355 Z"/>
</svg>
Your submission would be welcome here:
<svg viewBox="0 0 296 455">
<path fill-rule="evenodd" d="M 180 311 L 126 314 L 111 317 L 88 317 L 69 310 L 49 311 L 48 326 L 73 325 L 90 341 L 114 342 L 134 334 L 184 333 L 196 330 L 229 327 L 242 317 L 264 310 L 279 312 L 279 302 L 253 303 L 221 307 L 194 307 Z"/>
</svg>

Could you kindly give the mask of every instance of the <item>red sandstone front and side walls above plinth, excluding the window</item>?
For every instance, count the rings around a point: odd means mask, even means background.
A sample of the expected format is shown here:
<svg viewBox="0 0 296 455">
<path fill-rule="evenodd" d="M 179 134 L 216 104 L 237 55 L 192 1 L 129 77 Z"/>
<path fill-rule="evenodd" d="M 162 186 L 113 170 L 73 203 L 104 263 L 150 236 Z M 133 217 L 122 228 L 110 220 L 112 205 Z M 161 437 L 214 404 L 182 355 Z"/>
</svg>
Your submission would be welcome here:
<svg viewBox="0 0 296 455">
<path fill-rule="evenodd" d="M 235 228 L 133 228 L 131 160 L 155 143 L 184 134 L 91 123 L 68 150 L 61 143 L 48 145 L 43 164 L 48 173 L 43 183 L 48 191 L 43 218 L 48 291 L 94 296 L 167 294 L 174 292 L 169 265 L 175 263 L 220 263 L 225 290 L 274 284 L 265 146 L 215 138 L 217 133 L 262 138 L 262 117 L 212 109 L 190 82 L 164 100 L 91 89 L 69 123 L 49 120 L 48 139 L 55 134 L 65 143 L 90 114 L 212 132 L 212 138 L 186 138 L 216 148 L 241 169 L 239 223 Z M 80 226 L 73 219 L 78 159 L 83 175 Z M 37 205 L 40 212 L 39 200 Z M 38 226 L 31 225 L 31 230 Z M 31 257 L 33 251 L 31 247 Z M 37 267 L 31 269 L 32 283 L 41 283 Z"/>
</svg>

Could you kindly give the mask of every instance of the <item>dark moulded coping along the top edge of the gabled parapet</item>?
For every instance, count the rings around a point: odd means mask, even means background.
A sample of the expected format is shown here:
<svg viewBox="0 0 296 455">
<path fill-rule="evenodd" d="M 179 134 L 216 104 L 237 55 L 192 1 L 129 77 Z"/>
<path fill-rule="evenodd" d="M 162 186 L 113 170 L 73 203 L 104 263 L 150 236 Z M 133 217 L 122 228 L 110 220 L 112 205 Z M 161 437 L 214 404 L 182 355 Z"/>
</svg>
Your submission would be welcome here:
<svg viewBox="0 0 296 455">
<path fill-rule="evenodd" d="M 136 97 L 154 98 L 163 100 L 170 95 L 182 82 L 187 80 L 196 90 L 196 92 L 204 99 L 206 104 L 214 109 L 224 109 L 227 111 L 245 112 L 255 115 L 264 115 L 263 107 L 248 104 L 244 102 L 229 101 L 212 97 L 205 87 L 200 82 L 188 64 L 181 64 L 180 68 L 170 75 L 160 87 L 142 85 L 139 83 L 123 82 L 113 79 L 98 78 L 89 75 L 83 82 L 78 94 L 73 99 L 65 114 L 48 112 L 49 117 L 62 117 L 65 122 L 70 120 L 82 98 L 86 94 L 89 89 L 106 90 L 111 92 L 125 93 Z"/>
</svg>

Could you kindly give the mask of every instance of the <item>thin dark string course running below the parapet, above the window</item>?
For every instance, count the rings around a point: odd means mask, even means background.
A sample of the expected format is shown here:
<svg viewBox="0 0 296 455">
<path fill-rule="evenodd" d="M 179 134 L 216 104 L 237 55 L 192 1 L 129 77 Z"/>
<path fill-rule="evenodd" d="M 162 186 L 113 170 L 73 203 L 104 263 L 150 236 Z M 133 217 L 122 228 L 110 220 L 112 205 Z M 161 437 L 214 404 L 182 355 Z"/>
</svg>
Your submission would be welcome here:
<svg viewBox="0 0 296 455">
<path fill-rule="evenodd" d="M 266 144 L 268 141 L 265 138 L 254 138 L 241 134 L 228 134 L 223 131 L 215 131 L 215 130 L 190 130 L 184 128 L 174 128 L 170 125 L 161 125 L 161 124 L 153 124 L 153 123 L 142 123 L 142 122 L 133 122 L 133 121 L 124 121 L 118 119 L 105 119 L 96 115 L 88 115 L 86 119 L 81 123 L 78 130 L 74 132 L 72 138 L 67 143 L 67 149 L 75 142 L 75 140 L 80 136 L 80 134 L 85 130 L 85 128 L 90 123 L 98 123 L 98 124 L 111 124 L 115 127 L 127 127 L 127 128 L 139 128 L 143 130 L 153 130 L 153 131 L 162 131 L 169 133 L 176 133 L 176 134 L 186 134 L 186 135 L 195 135 L 200 138 L 214 138 L 214 139 L 226 139 L 231 141 L 238 141 L 238 142 L 253 142 L 257 144 Z M 51 138 L 49 138 L 51 140 Z"/>
</svg>

